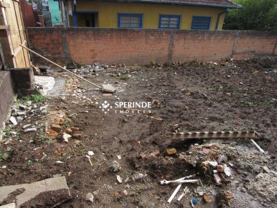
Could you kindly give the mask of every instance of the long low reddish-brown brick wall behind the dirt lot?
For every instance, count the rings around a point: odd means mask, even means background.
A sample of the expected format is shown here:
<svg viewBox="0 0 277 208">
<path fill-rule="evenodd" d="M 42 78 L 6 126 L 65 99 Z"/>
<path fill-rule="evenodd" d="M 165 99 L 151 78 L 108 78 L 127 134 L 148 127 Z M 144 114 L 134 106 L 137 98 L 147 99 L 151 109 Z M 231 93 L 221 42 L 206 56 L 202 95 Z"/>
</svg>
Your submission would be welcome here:
<svg viewBox="0 0 277 208">
<path fill-rule="evenodd" d="M 31 49 L 55 62 L 148 64 L 277 55 L 277 34 L 123 28 L 28 28 Z M 41 62 L 35 58 L 35 62 Z"/>
</svg>

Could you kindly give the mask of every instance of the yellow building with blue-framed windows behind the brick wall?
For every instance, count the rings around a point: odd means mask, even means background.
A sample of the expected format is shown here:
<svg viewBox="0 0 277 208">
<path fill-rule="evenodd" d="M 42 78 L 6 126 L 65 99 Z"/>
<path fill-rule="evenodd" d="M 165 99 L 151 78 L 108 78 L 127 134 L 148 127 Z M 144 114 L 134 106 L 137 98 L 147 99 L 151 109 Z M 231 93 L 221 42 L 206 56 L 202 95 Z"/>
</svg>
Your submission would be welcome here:
<svg viewBox="0 0 277 208">
<path fill-rule="evenodd" d="M 221 30 L 229 0 L 73 0 L 68 26 Z"/>
</svg>

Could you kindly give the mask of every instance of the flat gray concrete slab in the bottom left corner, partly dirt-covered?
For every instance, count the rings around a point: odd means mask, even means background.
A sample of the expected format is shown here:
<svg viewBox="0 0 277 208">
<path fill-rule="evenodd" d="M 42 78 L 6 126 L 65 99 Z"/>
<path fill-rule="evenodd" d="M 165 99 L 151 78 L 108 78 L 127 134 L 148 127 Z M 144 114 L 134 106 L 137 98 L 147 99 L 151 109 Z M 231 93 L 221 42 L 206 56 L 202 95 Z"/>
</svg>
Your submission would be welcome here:
<svg viewBox="0 0 277 208">
<path fill-rule="evenodd" d="M 53 177 L 48 178 L 46 180 L 42 180 L 39 182 L 34 182 L 32 184 L 18 184 L 6 187 L 0 187 L 0 202 L 3 202 L 6 198 L 8 198 L 9 194 L 17 189 L 25 189 L 23 193 L 15 196 L 17 207 L 20 207 L 24 202 L 28 202 L 28 200 L 32 200 L 39 193 L 43 193 L 46 191 L 58 191 L 58 190 L 68 190 L 66 194 L 71 196 L 69 187 L 67 187 L 66 179 L 64 176 L 62 177 Z"/>
</svg>

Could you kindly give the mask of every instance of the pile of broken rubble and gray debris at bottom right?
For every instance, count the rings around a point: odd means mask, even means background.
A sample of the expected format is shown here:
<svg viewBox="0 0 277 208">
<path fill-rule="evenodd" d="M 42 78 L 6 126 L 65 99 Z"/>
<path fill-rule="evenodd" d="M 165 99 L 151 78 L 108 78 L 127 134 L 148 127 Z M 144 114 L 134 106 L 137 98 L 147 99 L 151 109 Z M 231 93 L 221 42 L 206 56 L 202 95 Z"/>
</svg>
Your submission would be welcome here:
<svg viewBox="0 0 277 208">
<path fill-rule="evenodd" d="M 234 195 L 238 195 L 234 191 L 241 191 L 242 195 L 247 192 L 267 207 L 277 205 L 277 173 L 267 168 L 270 156 L 261 154 L 254 146 L 211 141 L 190 146 L 186 153 L 180 153 L 178 157 L 188 162 L 195 168 L 197 175 L 208 181 L 208 184 L 202 183 L 200 179 L 161 181 L 161 184 L 198 184 L 198 187 L 182 191 L 176 198 L 178 202 L 182 195 L 190 194 L 192 206 L 198 201 L 211 202 L 213 199 L 217 201 L 217 205 L 230 205 Z M 189 177 L 193 179 L 195 175 Z"/>
</svg>

